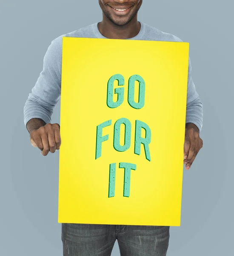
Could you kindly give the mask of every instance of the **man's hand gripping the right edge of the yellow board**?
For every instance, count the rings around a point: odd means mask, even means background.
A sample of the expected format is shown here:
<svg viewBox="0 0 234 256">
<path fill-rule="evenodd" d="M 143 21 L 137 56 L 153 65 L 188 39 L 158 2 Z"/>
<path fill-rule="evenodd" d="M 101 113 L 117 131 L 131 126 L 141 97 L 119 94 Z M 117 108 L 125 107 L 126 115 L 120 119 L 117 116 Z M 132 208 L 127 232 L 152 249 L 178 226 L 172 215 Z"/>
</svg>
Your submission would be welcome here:
<svg viewBox="0 0 234 256">
<path fill-rule="evenodd" d="M 184 164 L 188 170 L 199 150 L 203 147 L 203 140 L 199 136 L 197 126 L 187 125 L 185 128 L 185 143 L 184 143 Z"/>
</svg>

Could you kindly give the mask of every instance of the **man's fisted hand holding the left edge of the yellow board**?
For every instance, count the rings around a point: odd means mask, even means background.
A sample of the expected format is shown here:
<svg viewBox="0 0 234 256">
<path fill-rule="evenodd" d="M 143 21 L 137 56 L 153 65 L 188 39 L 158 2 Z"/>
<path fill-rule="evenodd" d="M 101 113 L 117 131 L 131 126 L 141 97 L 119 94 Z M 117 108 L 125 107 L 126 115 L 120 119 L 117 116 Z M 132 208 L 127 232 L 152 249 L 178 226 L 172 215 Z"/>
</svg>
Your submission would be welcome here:
<svg viewBox="0 0 234 256">
<path fill-rule="evenodd" d="M 31 145 L 41 150 L 41 154 L 46 156 L 49 152 L 54 153 L 61 145 L 60 125 L 46 124 L 30 132 Z"/>
</svg>

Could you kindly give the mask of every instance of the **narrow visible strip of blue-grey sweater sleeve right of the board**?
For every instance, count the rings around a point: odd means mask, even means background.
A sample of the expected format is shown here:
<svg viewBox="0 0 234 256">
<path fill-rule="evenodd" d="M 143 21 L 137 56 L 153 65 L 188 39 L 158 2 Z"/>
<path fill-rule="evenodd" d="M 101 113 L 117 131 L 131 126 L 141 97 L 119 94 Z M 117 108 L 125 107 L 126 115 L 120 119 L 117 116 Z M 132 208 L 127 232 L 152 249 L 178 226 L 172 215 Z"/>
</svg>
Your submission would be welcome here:
<svg viewBox="0 0 234 256">
<path fill-rule="evenodd" d="M 199 131 L 203 126 L 203 104 L 196 91 L 193 79 L 191 77 L 191 60 L 188 63 L 188 87 L 187 87 L 187 106 L 185 123 L 191 122 L 197 125 Z"/>
</svg>

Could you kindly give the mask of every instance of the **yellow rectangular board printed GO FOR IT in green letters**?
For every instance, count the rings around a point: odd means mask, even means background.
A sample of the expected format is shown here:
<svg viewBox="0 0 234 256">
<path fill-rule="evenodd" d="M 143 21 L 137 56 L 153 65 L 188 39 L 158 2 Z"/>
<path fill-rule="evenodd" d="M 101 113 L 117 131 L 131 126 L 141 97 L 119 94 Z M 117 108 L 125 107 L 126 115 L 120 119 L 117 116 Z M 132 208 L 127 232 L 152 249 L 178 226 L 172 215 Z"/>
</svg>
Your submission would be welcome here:
<svg viewBox="0 0 234 256">
<path fill-rule="evenodd" d="M 180 226 L 188 51 L 63 38 L 59 223 Z"/>
</svg>

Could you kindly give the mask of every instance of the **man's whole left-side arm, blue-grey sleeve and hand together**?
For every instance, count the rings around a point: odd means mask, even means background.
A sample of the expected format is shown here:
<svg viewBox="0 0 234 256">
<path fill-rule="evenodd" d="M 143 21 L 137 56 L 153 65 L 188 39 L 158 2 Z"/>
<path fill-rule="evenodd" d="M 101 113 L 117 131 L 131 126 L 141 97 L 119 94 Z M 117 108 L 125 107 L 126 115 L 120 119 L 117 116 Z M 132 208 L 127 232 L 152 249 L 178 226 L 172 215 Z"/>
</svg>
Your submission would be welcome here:
<svg viewBox="0 0 234 256">
<path fill-rule="evenodd" d="M 31 144 L 43 155 L 60 147 L 60 127 L 51 115 L 61 94 L 62 36 L 52 41 L 43 59 L 43 70 L 24 105 L 24 123 Z"/>
</svg>

